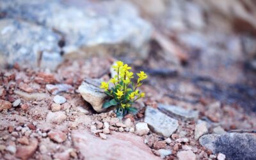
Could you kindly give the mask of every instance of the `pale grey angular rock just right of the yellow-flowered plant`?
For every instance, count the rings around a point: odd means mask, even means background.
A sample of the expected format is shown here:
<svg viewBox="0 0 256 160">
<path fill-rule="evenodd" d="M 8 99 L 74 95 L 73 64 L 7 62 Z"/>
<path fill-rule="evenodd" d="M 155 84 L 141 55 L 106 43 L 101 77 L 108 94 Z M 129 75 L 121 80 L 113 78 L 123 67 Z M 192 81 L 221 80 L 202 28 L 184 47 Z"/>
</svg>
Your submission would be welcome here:
<svg viewBox="0 0 256 160">
<path fill-rule="evenodd" d="M 145 111 L 144 122 L 146 122 L 154 132 L 165 137 L 170 137 L 179 126 L 177 120 L 164 115 L 164 113 L 161 113 L 158 109 L 154 109 L 150 106 L 147 106 Z"/>
</svg>

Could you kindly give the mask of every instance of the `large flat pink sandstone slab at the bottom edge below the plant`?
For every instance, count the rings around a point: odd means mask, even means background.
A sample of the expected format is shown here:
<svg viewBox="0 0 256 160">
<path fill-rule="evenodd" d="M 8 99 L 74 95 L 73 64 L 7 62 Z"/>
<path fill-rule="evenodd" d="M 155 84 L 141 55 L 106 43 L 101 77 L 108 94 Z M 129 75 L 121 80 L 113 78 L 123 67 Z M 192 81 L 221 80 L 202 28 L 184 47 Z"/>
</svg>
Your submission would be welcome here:
<svg viewBox="0 0 256 160">
<path fill-rule="evenodd" d="M 88 131 L 72 131 L 74 147 L 84 159 L 160 159 L 143 143 L 143 138 L 131 133 L 112 132 L 102 140 Z"/>
</svg>

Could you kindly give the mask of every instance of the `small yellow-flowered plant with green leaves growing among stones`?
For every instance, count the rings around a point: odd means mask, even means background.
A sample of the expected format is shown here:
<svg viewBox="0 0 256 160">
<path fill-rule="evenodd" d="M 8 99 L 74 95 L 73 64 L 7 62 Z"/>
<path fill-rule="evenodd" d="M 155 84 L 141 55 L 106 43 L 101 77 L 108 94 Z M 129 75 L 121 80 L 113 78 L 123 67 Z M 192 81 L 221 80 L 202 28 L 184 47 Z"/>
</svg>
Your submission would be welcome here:
<svg viewBox="0 0 256 160">
<path fill-rule="evenodd" d="M 117 61 L 115 65 L 113 65 L 113 68 L 116 75 L 110 79 L 108 83 L 102 82 L 100 86 L 109 96 L 109 100 L 104 102 L 103 108 L 116 106 L 115 112 L 118 117 L 123 117 L 128 113 L 136 114 L 137 109 L 132 108 L 132 104 L 134 104 L 136 100 L 145 97 L 145 93 L 140 92 L 138 87 L 141 86 L 144 79 L 147 79 L 147 74 L 140 71 L 140 73 L 137 74 L 138 80 L 134 83 L 131 81 L 134 78 L 133 72 L 129 71 L 131 67 L 127 64 L 124 64 L 122 61 Z M 111 85 L 109 85 L 109 83 Z"/>
</svg>

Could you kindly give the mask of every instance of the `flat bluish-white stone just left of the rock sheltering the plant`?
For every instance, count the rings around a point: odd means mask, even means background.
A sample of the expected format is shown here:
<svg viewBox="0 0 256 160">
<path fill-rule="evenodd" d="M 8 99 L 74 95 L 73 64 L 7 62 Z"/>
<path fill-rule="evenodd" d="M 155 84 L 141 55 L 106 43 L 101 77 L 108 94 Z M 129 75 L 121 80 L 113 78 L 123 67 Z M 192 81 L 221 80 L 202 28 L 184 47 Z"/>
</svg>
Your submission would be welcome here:
<svg viewBox="0 0 256 160">
<path fill-rule="evenodd" d="M 74 87 L 70 84 L 46 84 L 45 88 L 48 92 L 50 92 L 52 95 L 57 95 L 61 92 L 66 93 L 73 93 Z"/>
</svg>

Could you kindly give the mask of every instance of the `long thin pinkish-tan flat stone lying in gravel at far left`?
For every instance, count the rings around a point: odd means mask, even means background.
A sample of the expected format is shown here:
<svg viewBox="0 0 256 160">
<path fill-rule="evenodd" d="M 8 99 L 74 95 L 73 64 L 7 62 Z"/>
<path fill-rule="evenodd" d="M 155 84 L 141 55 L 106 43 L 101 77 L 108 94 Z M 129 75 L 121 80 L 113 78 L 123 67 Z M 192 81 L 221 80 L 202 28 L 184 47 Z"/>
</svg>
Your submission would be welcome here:
<svg viewBox="0 0 256 160">
<path fill-rule="evenodd" d="M 14 93 L 26 100 L 43 100 L 43 99 L 49 99 L 49 97 L 50 97 L 46 93 L 31 93 L 31 94 L 29 94 L 26 92 L 22 92 L 20 90 L 15 90 Z"/>
</svg>

